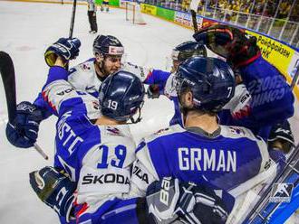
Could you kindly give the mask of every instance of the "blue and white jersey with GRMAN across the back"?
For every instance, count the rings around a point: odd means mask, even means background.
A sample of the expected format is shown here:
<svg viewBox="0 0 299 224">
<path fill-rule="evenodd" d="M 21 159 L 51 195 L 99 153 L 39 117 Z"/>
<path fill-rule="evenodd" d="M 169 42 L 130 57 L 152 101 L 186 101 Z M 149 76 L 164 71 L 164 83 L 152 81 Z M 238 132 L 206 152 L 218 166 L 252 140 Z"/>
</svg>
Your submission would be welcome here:
<svg viewBox="0 0 299 224">
<path fill-rule="evenodd" d="M 213 138 L 170 126 L 144 138 L 136 156 L 132 183 L 138 193 L 165 176 L 196 183 L 204 178 L 230 191 L 264 172 L 270 163 L 265 142 L 238 126 L 220 126 Z"/>
</svg>

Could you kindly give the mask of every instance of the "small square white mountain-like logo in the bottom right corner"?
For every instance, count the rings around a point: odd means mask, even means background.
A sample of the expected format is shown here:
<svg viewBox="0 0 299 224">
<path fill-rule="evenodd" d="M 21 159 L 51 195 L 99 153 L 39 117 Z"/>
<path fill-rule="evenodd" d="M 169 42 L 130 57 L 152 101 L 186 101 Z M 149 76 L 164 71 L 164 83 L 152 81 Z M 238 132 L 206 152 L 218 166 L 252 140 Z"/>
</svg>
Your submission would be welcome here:
<svg viewBox="0 0 299 224">
<path fill-rule="evenodd" d="M 290 202 L 292 191 L 294 188 L 293 183 L 275 182 L 271 191 L 271 202 Z"/>
</svg>

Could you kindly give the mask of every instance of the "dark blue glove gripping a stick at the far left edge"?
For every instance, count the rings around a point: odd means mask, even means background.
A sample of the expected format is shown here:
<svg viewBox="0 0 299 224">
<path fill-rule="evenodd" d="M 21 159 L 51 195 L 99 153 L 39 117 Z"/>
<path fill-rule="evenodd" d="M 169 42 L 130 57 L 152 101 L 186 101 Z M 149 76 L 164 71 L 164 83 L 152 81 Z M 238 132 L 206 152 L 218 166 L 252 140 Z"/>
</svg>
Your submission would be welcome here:
<svg viewBox="0 0 299 224">
<path fill-rule="evenodd" d="M 42 120 L 42 110 L 30 102 L 21 102 L 16 106 L 16 116 L 12 122 L 13 124 L 7 123 L 7 140 L 12 145 L 20 148 L 34 146 Z"/>
</svg>

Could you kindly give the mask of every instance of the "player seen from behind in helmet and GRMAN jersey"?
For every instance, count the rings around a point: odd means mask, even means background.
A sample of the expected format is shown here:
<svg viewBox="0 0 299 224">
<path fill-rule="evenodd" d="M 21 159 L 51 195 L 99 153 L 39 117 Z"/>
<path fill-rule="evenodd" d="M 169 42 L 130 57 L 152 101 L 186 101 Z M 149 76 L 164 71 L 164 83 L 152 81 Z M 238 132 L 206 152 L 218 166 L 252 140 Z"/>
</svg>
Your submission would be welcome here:
<svg viewBox="0 0 299 224">
<path fill-rule="evenodd" d="M 175 79 L 184 126 L 169 126 L 141 141 L 132 189 L 144 193 L 164 176 L 196 183 L 204 178 L 238 196 L 264 181 L 271 164 L 265 142 L 245 127 L 217 123 L 217 113 L 235 91 L 227 63 L 190 58 L 178 67 Z"/>
</svg>

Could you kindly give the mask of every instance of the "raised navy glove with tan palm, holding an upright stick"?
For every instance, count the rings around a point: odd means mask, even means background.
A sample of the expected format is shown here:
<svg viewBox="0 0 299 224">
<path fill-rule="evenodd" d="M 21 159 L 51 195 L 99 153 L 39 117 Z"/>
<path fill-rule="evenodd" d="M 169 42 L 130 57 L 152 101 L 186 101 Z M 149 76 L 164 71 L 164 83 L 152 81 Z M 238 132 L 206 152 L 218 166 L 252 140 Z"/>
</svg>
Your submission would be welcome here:
<svg viewBox="0 0 299 224">
<path fill-rule="evenodd" d="M 75 59 L 79 55 L 81 42 L 77 38 L 60 38 L 54 42 L 44 53 L 44 60 L 48 66 L 52 67 L 57 56 L 60 56 L 65 61 Z"/>
</svg>

